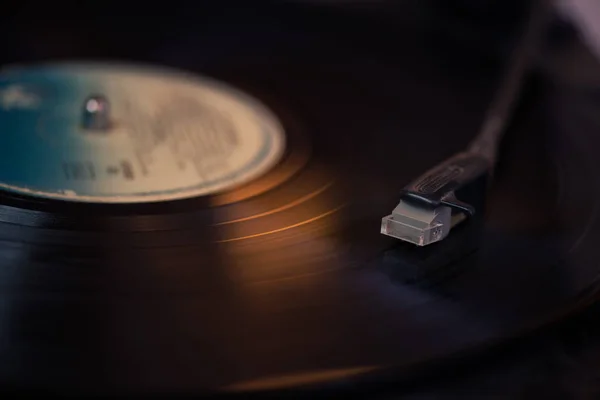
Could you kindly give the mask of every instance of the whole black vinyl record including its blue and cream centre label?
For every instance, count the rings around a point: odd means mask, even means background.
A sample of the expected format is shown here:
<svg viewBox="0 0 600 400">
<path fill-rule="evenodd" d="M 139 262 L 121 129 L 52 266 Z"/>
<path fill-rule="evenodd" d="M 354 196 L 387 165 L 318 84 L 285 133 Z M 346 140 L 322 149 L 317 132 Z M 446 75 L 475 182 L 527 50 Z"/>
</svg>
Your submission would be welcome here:
<svg viewBox="0 0 600 400">
<path fill-rule="evenodd" d="M 26 63 L 6 70 L 1 93 L 19 82 L 46 88 L 21 96 L 24 108 L 36 93 L 53 101 L 35 123 L 31 111 L 0 111 L 5 388 L 196 394 L 401 380 L 581 304 L 598 272 L 598 165 L 596 139 L 555 113 L 570 109 L 536 102 L 520 117 L 480 224 L 401 244 L 379 233 L 381 217 L 470 142 L 502 66 L 371 14 L 307 10 L 214 6 L 185 34 L 149 34 L 151 49 L 118 17 L 92 35 L 98 14 L 44 47 L 17 35 L 27 55 L 10 61 Z M 62 63 L 34 62 L 51 57 Z M 159 87 L 164 69 L 187 83 Z M 61 98 L 60 77 L 77 101 Z M 173 100 L 195 85 L 202 107 Z M 121 136 L 90 128 L 104 123 Z M 144 175 L 126 155 L 139 156 L 128 146 L 150 131 L 155 169 Z M 204 150 L 191 178 L 172 171 L 183 168 L 174 149 Z"/>
</svg>

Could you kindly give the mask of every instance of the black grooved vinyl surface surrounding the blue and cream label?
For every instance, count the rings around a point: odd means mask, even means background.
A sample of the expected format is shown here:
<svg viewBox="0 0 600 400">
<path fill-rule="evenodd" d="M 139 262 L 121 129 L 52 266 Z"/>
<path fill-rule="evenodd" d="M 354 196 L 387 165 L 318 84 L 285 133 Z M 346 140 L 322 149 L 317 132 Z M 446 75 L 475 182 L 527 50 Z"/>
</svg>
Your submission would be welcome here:
<svg viewBox="0 0 600 400">
<path fill-rule="evenodd" d="M 138 16 L 135 29 L 103 10 L 21 30 L 26 14 L 11 19 L 5 62 L 118 59 L 206 74 L 267 104 L 289 146 L 258 182 L 210 198 L 92 207 L 3 195 L 7 390 L 402 381 L 593 295 L 599 139 L 573 125 L 578 92 L 547 76 L 528 85 L 483 227 L 415 249 L 380 235 L 380 219 L 477 133 L 506 45 L 461 45 L 393 14 L 256 4 L 174 8 Z"/>
</svg>

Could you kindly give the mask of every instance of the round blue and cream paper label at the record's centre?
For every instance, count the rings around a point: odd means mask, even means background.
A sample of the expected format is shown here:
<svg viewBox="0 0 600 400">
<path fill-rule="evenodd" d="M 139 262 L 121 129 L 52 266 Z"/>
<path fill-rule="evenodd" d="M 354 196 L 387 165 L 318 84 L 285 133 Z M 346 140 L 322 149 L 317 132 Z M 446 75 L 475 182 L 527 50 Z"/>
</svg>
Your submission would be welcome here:
<svg viewBox="0 0 600 400">
<path fill-rule="evenodd" d="M 0 188 L 136 203 L 222 192 L 264 174 L 283 128 L 254 98 L 211 79 L 102 64 L 0 74 Z"/>
</svg>

